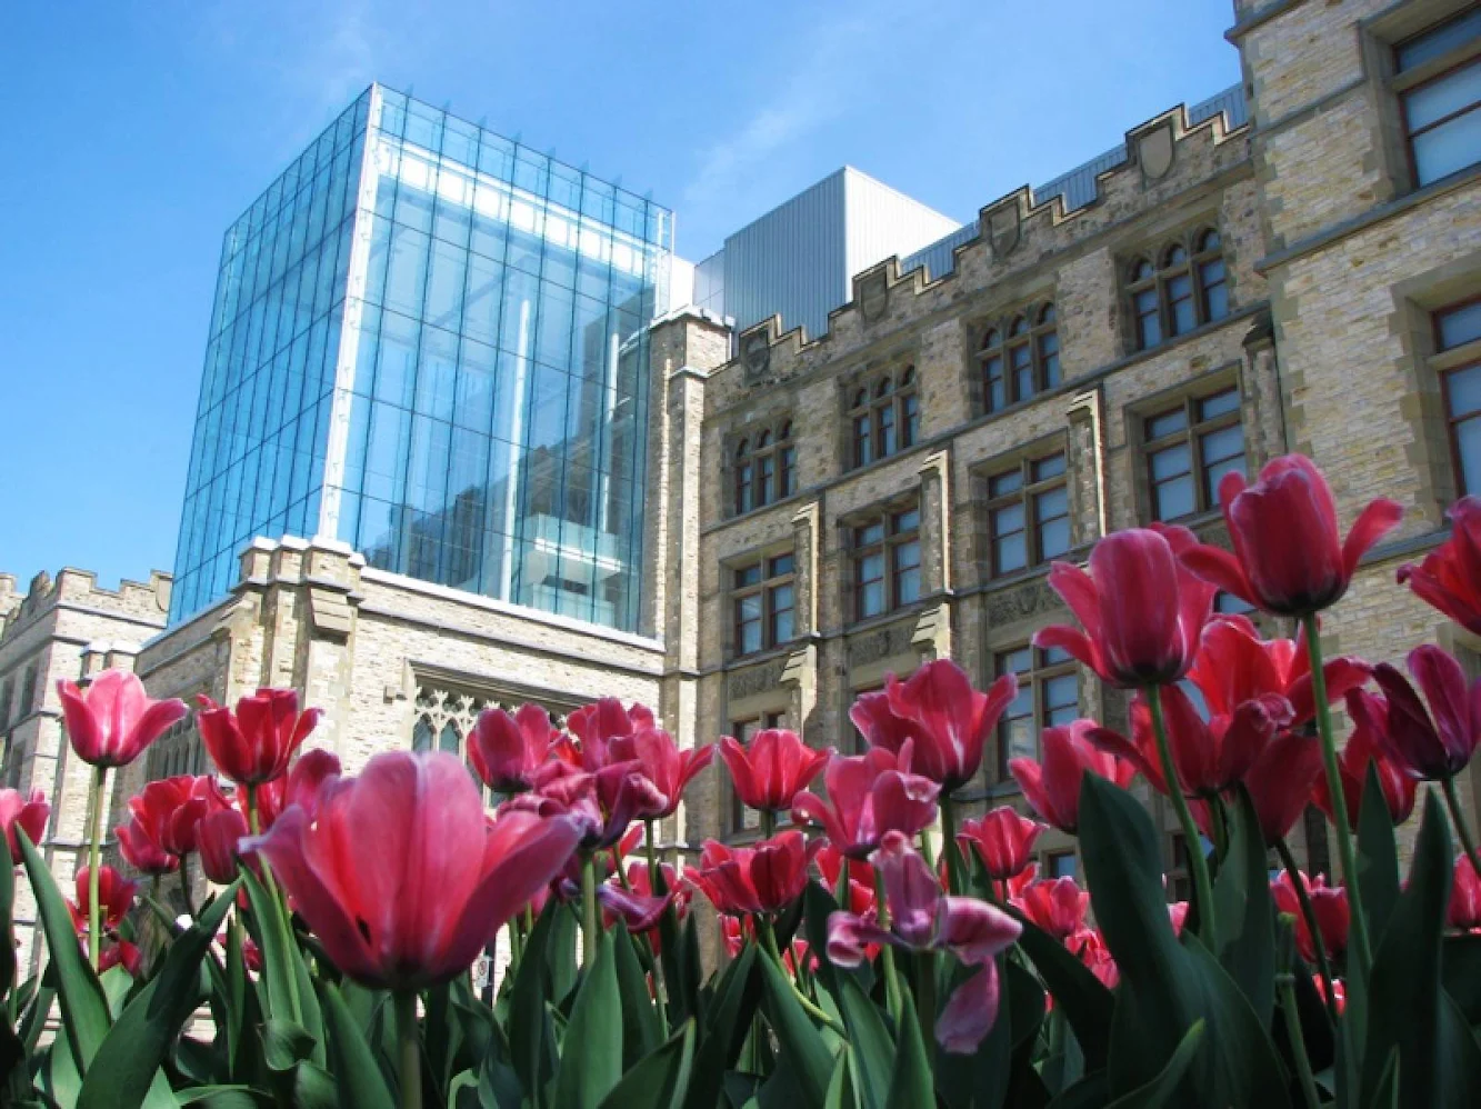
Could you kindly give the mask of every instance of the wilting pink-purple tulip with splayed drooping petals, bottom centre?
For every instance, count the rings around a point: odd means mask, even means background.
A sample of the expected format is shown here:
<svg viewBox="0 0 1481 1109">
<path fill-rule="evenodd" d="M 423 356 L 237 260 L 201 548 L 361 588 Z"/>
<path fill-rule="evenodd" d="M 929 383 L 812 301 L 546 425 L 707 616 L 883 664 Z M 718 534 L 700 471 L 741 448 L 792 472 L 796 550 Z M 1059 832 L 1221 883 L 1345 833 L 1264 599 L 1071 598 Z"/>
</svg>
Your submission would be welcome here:
<svg viewBox="0 0 1481 1109">
<path fill-rule="evenodd" d="M 884 877 L 890 927 L 852 912 L 828 917 L 828 958 L 857 967 L 872 943 L 908 951 L 949 951 L 967 967 L 980 967 L 946 999 L 936 1020 L 936 1041 L 948 1051 L 976 1051 L 998 1016 L 997 955 L 1023 931 L 1016 919 L 986 902 L 940 891 L 936 875 L 900 832 L 890 832 L 874 853 Z"/>
</svg>

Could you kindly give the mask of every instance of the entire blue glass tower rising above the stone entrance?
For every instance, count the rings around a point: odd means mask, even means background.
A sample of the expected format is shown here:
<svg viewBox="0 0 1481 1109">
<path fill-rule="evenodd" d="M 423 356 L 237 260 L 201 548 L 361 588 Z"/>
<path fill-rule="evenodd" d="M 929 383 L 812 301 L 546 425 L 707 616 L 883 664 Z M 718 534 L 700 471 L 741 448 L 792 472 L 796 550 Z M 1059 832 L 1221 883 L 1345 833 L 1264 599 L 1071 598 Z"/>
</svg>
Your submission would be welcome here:
<svg viewBox="0 0 1481 1109">
<path fill-rule="evenodd" d="M 172 619 L 253 536 L 638 629 L 672 215 L 372 86 L 227 232 Z"/>
</svg>

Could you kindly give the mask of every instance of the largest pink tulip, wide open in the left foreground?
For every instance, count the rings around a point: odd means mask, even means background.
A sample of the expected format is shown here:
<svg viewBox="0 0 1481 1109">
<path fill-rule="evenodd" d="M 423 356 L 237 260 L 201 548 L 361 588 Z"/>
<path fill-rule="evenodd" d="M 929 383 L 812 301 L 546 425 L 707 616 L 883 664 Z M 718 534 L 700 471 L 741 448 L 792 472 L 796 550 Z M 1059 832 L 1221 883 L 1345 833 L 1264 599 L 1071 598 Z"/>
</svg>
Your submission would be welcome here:
<svg viewBox="0 0 1481 1109">
<path fill-rule="evenodd" d="M 312 820 L 289 807 L 243 850 L 273 865 L 339 970 L 421 991 L 467 971 L 579 837 L 563 817 L 489 820 L 456 755 L 392 751 L 326 783 Z"/>
</svg>

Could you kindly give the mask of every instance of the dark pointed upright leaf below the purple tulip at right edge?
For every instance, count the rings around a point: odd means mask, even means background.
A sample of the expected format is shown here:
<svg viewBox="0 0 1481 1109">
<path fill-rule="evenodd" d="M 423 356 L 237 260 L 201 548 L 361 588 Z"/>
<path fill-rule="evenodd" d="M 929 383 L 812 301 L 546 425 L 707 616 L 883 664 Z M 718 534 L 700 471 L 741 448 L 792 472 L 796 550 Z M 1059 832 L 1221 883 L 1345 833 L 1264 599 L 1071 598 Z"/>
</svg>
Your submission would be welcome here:
<svg viewBox="0 0 1481 1109">
<path fill-rule="evenodd" d="M 1441 936 L 1450 900 L 1450 829 L 1434 792 L 1414 844 L 1408 888 L 1394 906 L 1368 977 L 1367 1035 L 1361 1060 L 1363 1100 L 1371 1100 L 1389 1053 L 1398 1048 L 1401 1105 L 1451 1105 L 1454 1056 L 1441 1042 Z"/>
</svg>

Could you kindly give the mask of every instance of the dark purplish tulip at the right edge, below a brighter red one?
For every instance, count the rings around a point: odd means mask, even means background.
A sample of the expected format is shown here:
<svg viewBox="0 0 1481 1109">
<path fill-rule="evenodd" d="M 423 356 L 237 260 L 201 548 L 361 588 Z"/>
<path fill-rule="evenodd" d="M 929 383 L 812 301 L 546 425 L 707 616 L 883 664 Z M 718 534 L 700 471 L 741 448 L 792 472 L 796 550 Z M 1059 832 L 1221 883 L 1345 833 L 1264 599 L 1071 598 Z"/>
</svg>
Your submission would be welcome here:
<svg viewBox="0 0 1481 1109">
<path fill-rule="evenodd" d="M 1414 687 L 1386 662 L 1373 668 L 1373 680 L 1388 705 L 1360 691 L 1349 709 L 1354 720 L 1373 730 L 1379 748 L 1400 770 L 1442 782 L 1465 770 L 1481 743 L 1481 680 L 1468 686 L 1460 663 L 1434 644 L 1408 653 L 1408 672 L 1425 691 L 1429 712 Z"/>
</svg>

